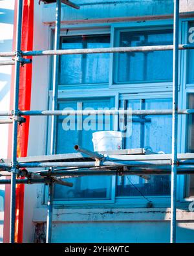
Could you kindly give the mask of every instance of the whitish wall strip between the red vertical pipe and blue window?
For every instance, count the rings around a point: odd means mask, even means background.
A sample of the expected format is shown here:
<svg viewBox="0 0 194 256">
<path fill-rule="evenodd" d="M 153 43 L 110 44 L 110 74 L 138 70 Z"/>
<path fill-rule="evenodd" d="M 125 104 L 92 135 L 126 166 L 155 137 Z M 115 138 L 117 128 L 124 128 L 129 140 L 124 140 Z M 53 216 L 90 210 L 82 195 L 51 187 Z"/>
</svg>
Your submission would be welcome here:
<svg viewBox="0 0 194 256">
<path fill-rule="evenodd" d="M 42 23 L 42 5 L 34 1 L 34 50 L 48 49 L 48 26 Z M 32 60 L 32 110 L 47 110 L 48 102 L 48 57 L 39 56 Z M 28 156 L 45 154 L 47 117 L 30 117 Z M 37 207 L 37 191 L 41 185 L 25 186 L 24 242 L 34 239 L 32 215 Z"/>
</svg>

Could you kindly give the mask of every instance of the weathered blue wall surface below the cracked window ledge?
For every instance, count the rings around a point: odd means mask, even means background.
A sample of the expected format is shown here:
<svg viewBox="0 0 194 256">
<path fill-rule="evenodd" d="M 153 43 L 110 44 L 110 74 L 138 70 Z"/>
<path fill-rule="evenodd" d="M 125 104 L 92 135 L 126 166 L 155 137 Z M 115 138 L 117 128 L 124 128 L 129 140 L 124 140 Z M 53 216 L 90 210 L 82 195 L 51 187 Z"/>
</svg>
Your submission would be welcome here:
<svg viewBox="0 0 194 256">
<path fill-rule="evenodd" d="M 188 228 L 189 226 L 189 228 Z M 178 222 L 177 242 L 194 242 L 194 224 Z M 52 242 L 169 242 L 169 222 L 56 223 Z"/>
</svg>

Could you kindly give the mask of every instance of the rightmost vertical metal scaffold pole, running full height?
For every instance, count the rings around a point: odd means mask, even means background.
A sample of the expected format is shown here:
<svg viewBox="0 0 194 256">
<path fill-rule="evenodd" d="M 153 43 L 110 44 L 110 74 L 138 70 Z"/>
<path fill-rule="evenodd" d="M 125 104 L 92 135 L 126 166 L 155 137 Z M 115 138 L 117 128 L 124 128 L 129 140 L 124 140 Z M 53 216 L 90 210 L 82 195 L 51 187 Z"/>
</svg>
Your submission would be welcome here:
<svg viewBox="0 0 194 256">
<path fill-rule="evenodd" d="M 178 23 L 179 0 L 174 1 L 173 35 L 173 116 L 172 116 L 172 165 L 171 165 L 171 238 L 176 242 L 176 201 L 177 201 L 177 133 L 178 133 Z"/>
</svg>

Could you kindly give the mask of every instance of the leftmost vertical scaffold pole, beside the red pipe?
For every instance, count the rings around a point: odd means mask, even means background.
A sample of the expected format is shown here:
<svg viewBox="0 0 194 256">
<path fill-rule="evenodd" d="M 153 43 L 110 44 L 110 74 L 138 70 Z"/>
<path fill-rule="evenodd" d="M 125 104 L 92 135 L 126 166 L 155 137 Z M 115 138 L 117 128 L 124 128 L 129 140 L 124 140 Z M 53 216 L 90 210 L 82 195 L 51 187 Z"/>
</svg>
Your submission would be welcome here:
<svg viewBox="0 0 194 256">
<path fill-rule="evenodd" d="M 15 242 L 16 220 L 16 164 L 17 164 L 17 112 L 19 104 L 19 57 L 21 52 L 21 23 L 22 23 L 23 0 L 17 1 L 17 31 L 16 31 L 16 65 L 14 78 L 14 113 L 12 134 L 12 172 L 10 193 L 10 242 Z"/>
</svg>

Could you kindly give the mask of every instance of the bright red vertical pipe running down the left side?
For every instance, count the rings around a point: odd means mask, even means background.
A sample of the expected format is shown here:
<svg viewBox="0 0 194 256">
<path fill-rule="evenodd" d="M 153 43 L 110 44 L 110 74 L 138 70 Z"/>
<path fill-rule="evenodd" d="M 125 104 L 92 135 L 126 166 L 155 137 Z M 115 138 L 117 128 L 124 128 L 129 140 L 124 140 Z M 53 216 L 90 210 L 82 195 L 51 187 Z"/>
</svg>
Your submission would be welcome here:
<svg viewBox="0 0 194 256">
<path fill-rule="evenodd" d="M 23 21 L 21 35 L 21 50 L 30 51 L 33 49 L 34 29 L 34 0 L 23 1 Z M 32 58 L 28 56 L 27 58 Z M 19 78 L 19 110 L 30 110 L 32 87 L 32 64 L 26 64 L 20 68 Z M 25 117 L 26 122 L 18 126 L 17 134 L 17 157 L 27 156 L 28 134 L 30 117 Z M 23 212 L 24 212 L 25 185 L 16 185 L 16 231 L 15 241 L 23 242 Z"/>
</svg>

